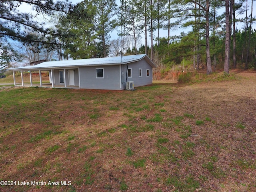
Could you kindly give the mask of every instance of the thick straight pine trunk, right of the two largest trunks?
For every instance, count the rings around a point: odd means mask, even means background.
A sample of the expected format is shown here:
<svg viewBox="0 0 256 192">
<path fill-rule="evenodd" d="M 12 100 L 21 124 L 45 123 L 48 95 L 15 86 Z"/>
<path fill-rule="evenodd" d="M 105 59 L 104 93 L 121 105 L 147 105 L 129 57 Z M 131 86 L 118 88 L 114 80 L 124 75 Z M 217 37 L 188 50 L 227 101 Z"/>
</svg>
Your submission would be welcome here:
<svg viewBox="0 0 256 192">
<path fill-rule="evenodd" d="M 230 25 L 229 25 L 229 0 L 225 0 L 226 7 L 226 39 L 225 39 L 225 61 L 224 72 L 229 74 L 229 62 L 230 62 Z"/>
</svg>

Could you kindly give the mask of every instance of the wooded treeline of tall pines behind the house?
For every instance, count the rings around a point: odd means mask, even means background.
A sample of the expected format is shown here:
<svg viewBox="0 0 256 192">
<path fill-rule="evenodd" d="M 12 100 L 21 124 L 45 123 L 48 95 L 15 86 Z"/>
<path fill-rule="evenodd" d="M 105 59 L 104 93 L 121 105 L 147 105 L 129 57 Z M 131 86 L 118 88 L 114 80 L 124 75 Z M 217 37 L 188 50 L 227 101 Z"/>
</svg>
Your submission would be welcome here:
<svg viewBox="0 0 256 192">
<path fill-rule="evenodd" d="M 51 1 L 43 5 L 38 1 L 36 12 L 51 17 L 47 29 L 36 26 L 32 18 L 31 24 L 26 25 L 25 21 L 14 20 L 13 15 L 6 17 L 4 8 L 9 12 L 17 10 L 19 2 L 4 1 L 5 7 L 1 5 L 2 63 L 8 54 L 14 55 L 11 38 L 23 42 L 26 54 L 37 54 L 36 60 L 146 53 L 158 70 L 192 66 L 206 68 L 210 74 L 219 65 L 228 74 L 230 68 L 256 68 L 253 0 L 121 0 L 119 6 L 115 0 L 85 0 L 76 5 L 57 2 L 51 5 L 53 9 L 46 6 Z M 8 31 L 11 22 L 16 30 Z M 119 38 L 111 40 L 114 29 L 118 29 Z M 161 30 L 168 35 L 160 37 Z M 184 32 L 173 35 L 176 30 Z M 57 57 L 40 58 L 42 52 L 46 56 L 45 52 L 50 51 L 56 52 Z M 34 61 L 32 58 L 30 62 Z"/>
</svg>

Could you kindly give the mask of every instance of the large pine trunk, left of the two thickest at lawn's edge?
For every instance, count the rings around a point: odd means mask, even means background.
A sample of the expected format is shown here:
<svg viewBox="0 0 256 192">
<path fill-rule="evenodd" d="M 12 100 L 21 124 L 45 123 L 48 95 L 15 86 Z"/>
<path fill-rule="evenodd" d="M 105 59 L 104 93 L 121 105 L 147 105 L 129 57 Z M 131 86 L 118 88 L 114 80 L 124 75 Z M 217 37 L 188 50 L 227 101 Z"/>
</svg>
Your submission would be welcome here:
<svg viewBox="0 0 256 192">
<path fill-rule="evenodd" d="M 212 73 L 212 63 L 210 56 L 210 37 L 209 37 L 209 0 L 206 0 L 206 65 L 207 74 Z"/>
</svg>

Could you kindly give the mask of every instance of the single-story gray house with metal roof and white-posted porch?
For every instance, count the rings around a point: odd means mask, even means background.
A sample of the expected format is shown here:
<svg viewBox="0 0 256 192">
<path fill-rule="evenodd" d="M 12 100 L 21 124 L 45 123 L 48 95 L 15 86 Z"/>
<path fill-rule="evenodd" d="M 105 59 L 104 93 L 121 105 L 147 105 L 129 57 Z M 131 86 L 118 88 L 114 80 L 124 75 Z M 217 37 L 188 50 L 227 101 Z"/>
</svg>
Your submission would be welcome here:
<svg viewBox="0 0 256 192">
<path fill-rule="evenodd" d="M 83 88 L 124 90 L 152 84 L 152 69 L 156 66 L 146 54 L 46 61 L 34 66 L 10 68 L 14 86 L 25 86 L 23 72 L 30 72 L 30 85 L 52 88 Z M 16 84 L 15 72 L 21 72 L 21 84 Z M 42 71 L 49 72 L 48 84 L 42 83 Z M 32 83 L 32 72 L 38 72 L 40 85 Z"/>
</svg>

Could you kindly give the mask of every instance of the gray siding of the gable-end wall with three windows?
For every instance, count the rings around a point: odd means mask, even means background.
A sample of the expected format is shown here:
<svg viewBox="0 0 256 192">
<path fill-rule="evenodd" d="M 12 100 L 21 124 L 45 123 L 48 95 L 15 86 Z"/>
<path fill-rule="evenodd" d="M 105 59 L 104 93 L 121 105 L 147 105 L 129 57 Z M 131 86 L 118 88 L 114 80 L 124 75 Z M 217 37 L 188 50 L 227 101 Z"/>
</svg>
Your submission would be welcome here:
<svg viewBox="0 0 256 192">
<path fill-rule="evenodd" d="M 132 68 L 132 78 L 127 77 L 127 65 L 128 68 Z M 122 66 L 122 70 L 124 70 L 124 78 L 122 79 L 122 82 L 124 82 L 122 83 L 124 89 L 126 88 L 126 81 L 133 81 L 134 87 L 152 84 L 152 67 L 145 59 L 127 65 L 125 64 L 124 66 Z M 139 77 L 139 69 L 142 70 L 141 77 Z M 147 69 L 149 69 L 148 77 Z"/>
</svg>

